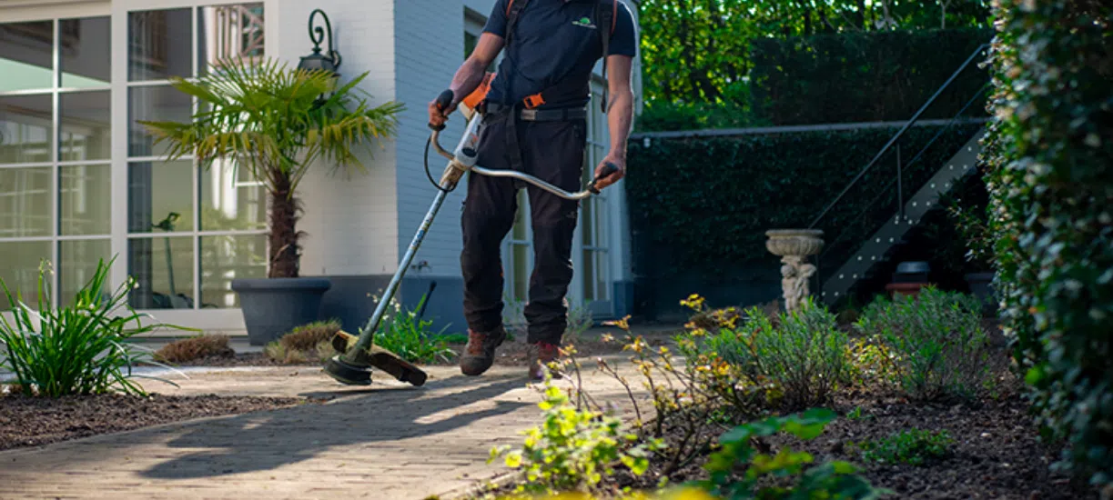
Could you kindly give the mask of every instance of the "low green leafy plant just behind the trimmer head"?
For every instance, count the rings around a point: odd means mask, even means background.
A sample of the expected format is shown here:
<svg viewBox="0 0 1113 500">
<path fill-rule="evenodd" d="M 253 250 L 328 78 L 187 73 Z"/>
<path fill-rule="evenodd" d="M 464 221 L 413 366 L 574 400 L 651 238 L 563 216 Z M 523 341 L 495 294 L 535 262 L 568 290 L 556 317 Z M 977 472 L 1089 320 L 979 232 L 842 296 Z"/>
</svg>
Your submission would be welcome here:
<svg viewBox="0 0 1113 500">
<path fill-rule="evenodd" d="M 417 311 L 422 309 L 426 299 L 427 296 L 423 294 L 414 309 L 403 310 L 397 297 L 391 298 L 391 303 L 372 341 L 412 363 L 451 361 L 456 352 L 449 348 L 443 334 L 449 327 L 445 326 L 436 332 L 432 330 L 432 320 L 417 317 Z M 373 300 L 377 302 L 380 298 L 374 297 Z"/>
</svg>

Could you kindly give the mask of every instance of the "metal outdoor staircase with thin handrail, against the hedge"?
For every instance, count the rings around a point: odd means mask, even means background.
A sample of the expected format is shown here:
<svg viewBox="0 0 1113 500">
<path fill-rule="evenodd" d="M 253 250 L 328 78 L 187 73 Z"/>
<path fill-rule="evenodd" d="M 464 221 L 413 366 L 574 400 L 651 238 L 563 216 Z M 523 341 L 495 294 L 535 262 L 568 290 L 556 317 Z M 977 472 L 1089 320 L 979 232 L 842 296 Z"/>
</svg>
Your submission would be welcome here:
<svg viewBox="0 0 1113 500">
<path fill-rule="evenodd" d="M 968 68 L 971 63 L 975 60 L 975 58 L 979 53 L 983 53 L 983 51 L 985 51 L 988 47 L 989 47 L 988 43 L 982 44 L 974 51 L 974 53 L 969 56 L 966 62 L 964 62 L 954 72 L 954 74 L 952 74 L 951 78 L 945 83 L 943 83 L 942 87 L 939 87 L 939 89 L 935 92 L 935 94 L 932 96 L 932 98 L 924 103 L 924 106 L 916 112 L 916 114 L 913 116 L 913 118 L 909 119 L 908 122 L 905 123 L 904 127 L 902 127 L 900 130 L 897 131 L 897 133 L 894 134 L 892 139 L 889 139 L 888 143 L 886 143 L 881 148 L 881 150 L 877 152 L 874 159 L 860 172 L 858 172 L 858 174 L 846 186 L 846 188 L 843 189 L 839 196 L 836 197 L 835 200 L 831 201 L 824 209 L 824 211 L 815 219 L 815 221 L 811 222 L 810 226 L 808 226 L 808 229 L 819 229 L 817 228 L 817 226 L 821 220 L 824 220 L 825 217 L 827 217 L 831 212 L 831 209 L 838 204 L 838 202 L 851 190 L 851 188 L 854 188 L 858 183 L 859 180 L 863 179 L 863 177 L 867 172 L 870 171 L 870 169 L 874 168 L 875 164 L 878 163 L 878 160 L 880 160 L 883 157 L 886 156 L 886 153 L 890 152 L 890 150 L 894 149 L 894 146 L 897 144 L 897 141 L 904 136 L 904 133 L 909 128 L 912 128 L 917 122 L 917 120 L 924 113 L 924 111 L 927 110 L 928 107 L 930 107 L 932 103 L 935 102 L 936 98 L 938 98 L 939 94 L 943 93 L 943 91 L 958 77 L 958 74 L 962 73 L 966 68 Z M 989 87 L 988 83 L 986 83 L 977 92 L 975 92 L 975 94 L 971 97 L 971 99 L 966 102 L 966 106 L 964 106 L 963 109 L 959 110 L 958 113 L 947 122 L 946 127 L 944 127 L 944 130 L 940 130 L 935 136 L 935 138 L 933 138 L 927 143 L 927 146 L 925 146 L 907 164 L 912 164 L 917 159 L 923 157 L 925 151 L 927 151 L 927 149 L 932 147 L 932 144 L 936 141 L 936 139 L 938 139 L 939 136 L 947 128 L 959 121 L 961 117 L 966 111 L 966 109 L 969 108 L 969 106 L 988 89 L 988 87 Z M 878 200 L 880 200 L 884 196 L 892 196 L 892 189 L 895 186 L 897 191 L 896 206 L 893 207 L 893 210 L 896 213 L 894 213 L 893 217 L 889 217 L 884 222 L 877 221 L 877 216 L 879 216 L 879 213 L 875 214 L 873 219 L 875 221 L 874 223 L 879 226 L 876 227 L 876 229 L 873 229 L 869 226 L 863 226 L 864 229 L 869 228 L 866 229 L 864 232 L 871 234 L 868 238 L 863 239 L 861 244 L 855 251 L 853 251 L 853 253 L 850 253 L 850 257 L 847 260 L 843 261 L 840 264 L 836 267 L 829 267 L 823 263 L 819 264 L 819 272 L 817 272 L 815 279 L 821 283 L 823 291 L 820 299 L 824 302 L 828 304 L 834 304 L 835 302 L 847 296 L 848 291 L 858 281 L 870 278 L 873 276 L 874 270 L 876 269 L 875 267 L 880 262 L 888 261 L 889 256 L 893 253 L 893 251 L 904 242 L 905 236 L 908 234 L 908 232 L 919 223 L 920 219 L 928 211 L 936 208 L 940 194 L 944 194 L 947 191 L 949 191 L 954 186 L 958 183 L 958 181 L 963 177 L 976 170 L 977 156 L 981 152 L 979 140 L 982 139 L 984 133 L 985 133 L 984 128 L 979 129 L 976 133 L 974 133 L 957 150 L 957 152 L 955 152 L 951 157 L 948 161 L 942 164 L 938 168 L 938 170 L 936 170 L 935 173 L 926 182 L 923 183 L 923 186 L 919 188 L 918 191 L 916 191 L 910 198 L 907 199 L 905 198 L 904 192 L 902 190 L 903 188 L 902 178 L 904 177 L 904 174 L 902 173 L 902 163 L 899 159 L 900 147 L 896 146 L 895 148 L 897 153 L 896 176 L 893 180 L 889 181 L 888 186 L 886 186 L 881 190 L 883 192 L 880 193 L 880 196 L 878 196 L 878 193 L 876 192 L 869 193 L 869 196 L 873 196 L 875 198 L 874 201 L 866 207 L 866 210 L 869 210 L 873 208 L 873 204 L 876 203 Z M 927 172 L 923 172 L 923 174 L 926 173 Z M 889 203 L 892 203 L 892 201 L 889 201 Z M 863 220 L 866 213 L 867 213 L 866 211 L 858 213 L 854 218 L 855 219 L 854 222 L 857 223 L 860 220 Z M 847 222 L 846 221 L 829 222 L 829 224 L 835 224 L 835 226 L 840 226 L 844 223 Z M 840 240 L 846 238 L 847 234 L 851 232 L 847 227 L 840 227 L 838 229 L 839 229 L 839 234 L 834 240 L 827 242 L 824 253 L 819 256 L 820 262 L 824 261 L 824 257 L 826 257 L 825 253 L 830 252 L 835 248 L 836 243 L 840 242 Z M 828 269 L 835 269 L 835 271 L 827 272 L 824 269 L 825 267 L 827 267 Z"/>
</svg>

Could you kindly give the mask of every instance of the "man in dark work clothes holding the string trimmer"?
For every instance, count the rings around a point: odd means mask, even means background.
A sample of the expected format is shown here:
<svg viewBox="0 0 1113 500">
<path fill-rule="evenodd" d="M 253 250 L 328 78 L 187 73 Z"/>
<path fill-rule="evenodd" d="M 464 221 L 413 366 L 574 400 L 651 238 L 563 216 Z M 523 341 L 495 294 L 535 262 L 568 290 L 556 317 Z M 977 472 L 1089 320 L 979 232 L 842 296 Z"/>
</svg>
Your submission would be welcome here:
<svg viewBox="0 0 1113 500">
<path fill-rule="evenodd" d="M 515 10 L 516 23 L 508 26 Z M 612 22 L 601 22 L 607 17 Z M 608 162 L 618 171 L 595 186 L 604 188 L 617 182 L 626 172 L 626 144 L 633 116 L 630 68 L 637 53 L 633 16 L 621 2 L 496 0 L 475 50 L 449 87 L 453 102 L 443 111 L 435 100 L 431 102 L 430 123 L 444 123 L 459 102 L 482 82 L 485 69 L 505 47 L 506 56 L 477 108 L 483 113 L 477 164 L 522 171 L 561 189 L 579 190 L 591 96 L 589 79 L 603 57 L 601 34 L 609 36 L 605 70 L 611 148 L 594 172 L 598 177 Z M 564 296 L 572 280 L 572 232 L 579 203 L 514 179 L 470 174 L 461 217 L 464 249 L 460 263 L 469 326 L 467 347 L 460 359 L 464 374 L 479 376 L 491 368 L 495 348 L 506 337 L 502 324 L 500 246 L 514 223 L 515 194 L 523 187 L 533 224 L 534 268 L 524 310 L 526 342 L 533 357 L 529 374 L 533 380 L 543 379 L 545 364 L 556 359 L 568 324 Z"/>
</svg>

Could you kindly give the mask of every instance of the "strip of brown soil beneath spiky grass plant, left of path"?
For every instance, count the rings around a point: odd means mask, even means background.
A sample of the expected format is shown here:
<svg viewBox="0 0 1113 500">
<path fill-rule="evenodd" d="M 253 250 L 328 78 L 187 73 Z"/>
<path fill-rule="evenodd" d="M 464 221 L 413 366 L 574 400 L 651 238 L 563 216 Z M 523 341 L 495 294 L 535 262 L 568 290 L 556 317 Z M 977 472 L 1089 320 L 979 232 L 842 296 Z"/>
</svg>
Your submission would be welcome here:
<svg viewBox="0 0 1113 500">
<path fill-rule="evenodd" d="M 121 432 L 160 423 L 272 410 L 302 398 L 125 394 L 0 396 L 0 450 Z"/>
</svg>

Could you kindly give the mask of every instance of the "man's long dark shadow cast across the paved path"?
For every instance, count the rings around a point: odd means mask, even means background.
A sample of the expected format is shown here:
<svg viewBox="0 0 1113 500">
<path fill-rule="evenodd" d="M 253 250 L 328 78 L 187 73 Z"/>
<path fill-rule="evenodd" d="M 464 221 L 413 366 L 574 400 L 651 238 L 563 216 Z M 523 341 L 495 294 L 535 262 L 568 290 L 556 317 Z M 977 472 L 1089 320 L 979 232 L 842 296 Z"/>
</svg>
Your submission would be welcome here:
<svg viewBox="0 0 1113 500">
<path fill-rule="evenodd" d="M 470 386 L 464 390 L 453 390 Z M 474 387 L 471 387 L 474 386 Z M 359 444 L 382 443 L 450 432 L 476 421 L 510 413 L 531 401 L 494 400 L 510 390 L 523 389 L 520 376 L 454 377 L 435 387 L 439 393 L 418 388 L 390 388 L 366 392 L 344 391 L 332 394 L 318 391 L 303 396 L 344 396 L 327 404 L 304 404 L 264 413 L 247 413 L 228 419 L 188 426 L 181 436 L 167 443 L 169 449 L 191 448 L 196 452 L 161 461 L 140 476 L 150 479 L 213 478 L 253 471 L 272 470 L 297 463 L 328 451 L 331 448 L 358 449 Z M 430 423 L 436 413 L 484 402 L 482 409 L 441 418 Z M 482 432 L 482 431 L 480 431 Z M 423 446 L 400 443 L 400 448 Z M 485 452 L 486 450 L 483 450 Z M 416 461 L 421 454 L 413 453 Z M 363 451 L 359 454 L 368 454 Z M 405 452 L 400 453 L 406 456 Z M 426 452 L 425 457 L 439 457 Z M 393 458 L 384 457 L 384 458 Z M 396 466 L 402 466 L 397 463 Z"/>
</svg>

